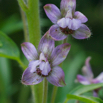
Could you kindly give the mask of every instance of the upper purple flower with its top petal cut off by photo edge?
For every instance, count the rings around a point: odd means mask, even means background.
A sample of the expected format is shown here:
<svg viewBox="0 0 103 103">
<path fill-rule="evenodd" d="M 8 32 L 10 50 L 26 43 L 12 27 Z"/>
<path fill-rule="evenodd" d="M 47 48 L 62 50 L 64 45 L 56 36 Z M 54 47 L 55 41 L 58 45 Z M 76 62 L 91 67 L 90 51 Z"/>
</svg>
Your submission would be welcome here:
<svg viewBox="0 0 103 103">
<path fill-rule="evenodd" d="M 68 35 L 76 39 L 86 39 L 91 36 L 89 28 L 83 24 L 88 21 L 85 15 L 76 11 L 76 0 L 62 0 L 60 10 L 54 4 L 46 4 L 44 10 L 54 23 L 50 27 L 50 35 L 54 40 L 63 40 Z"/>
</svg>

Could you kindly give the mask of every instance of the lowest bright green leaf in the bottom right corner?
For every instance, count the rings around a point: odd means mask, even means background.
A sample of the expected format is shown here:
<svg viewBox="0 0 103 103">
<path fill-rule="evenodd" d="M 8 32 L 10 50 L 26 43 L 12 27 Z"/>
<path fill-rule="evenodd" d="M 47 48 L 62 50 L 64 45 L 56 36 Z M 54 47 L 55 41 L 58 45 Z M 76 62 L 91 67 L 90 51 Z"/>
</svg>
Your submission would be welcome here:
<svg viewBox="0 0 103 103">
<path fill-rule="evenodd" d="M 67 103 L 68 100 L 70 100 L 70 99 L 80 100 L 80 101 L 85 102 L 85 103 L 103 103 L 103 101 L 99 98 L 87 97 L 87 96 L 78 96 L 78 95 L 72 95 L 72 94 L 67 95 L 67 99 L 64 103 Z"/>
</svg>

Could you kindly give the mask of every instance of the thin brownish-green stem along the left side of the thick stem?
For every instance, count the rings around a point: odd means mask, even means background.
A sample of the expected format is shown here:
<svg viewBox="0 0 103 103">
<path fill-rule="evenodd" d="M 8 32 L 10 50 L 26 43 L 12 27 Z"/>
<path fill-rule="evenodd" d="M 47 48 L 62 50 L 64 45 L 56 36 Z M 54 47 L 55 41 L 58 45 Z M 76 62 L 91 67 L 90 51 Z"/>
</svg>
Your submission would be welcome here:
<svg viewBox="0 0 103 103">
<path fill-rule="evenodd" d="M 25 42 L 28 42 L 29 41 L 28 28 L 27 28 L 27 24 L 26 24 L 25 13 L 24 13 L 24 11 L 22 9 L 21 9 L 21 17 L 22 17 L 23 27 L 24 27 Z"/>
</svg>

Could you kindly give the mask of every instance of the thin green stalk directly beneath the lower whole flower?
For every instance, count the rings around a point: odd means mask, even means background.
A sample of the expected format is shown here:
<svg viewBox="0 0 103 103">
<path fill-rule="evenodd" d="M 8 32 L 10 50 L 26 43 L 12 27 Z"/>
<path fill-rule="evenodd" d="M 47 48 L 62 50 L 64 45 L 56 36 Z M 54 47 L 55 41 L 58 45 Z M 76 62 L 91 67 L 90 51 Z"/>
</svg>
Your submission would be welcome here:
<svg viewBox="0 0 103 103">
<path fill-rule="evenodd" d="M 48 81 L 44 78 L 43 81 L 43 101 L 42 103 L 47 103 L 47 94 L 48 94 Z"/>
</svg>

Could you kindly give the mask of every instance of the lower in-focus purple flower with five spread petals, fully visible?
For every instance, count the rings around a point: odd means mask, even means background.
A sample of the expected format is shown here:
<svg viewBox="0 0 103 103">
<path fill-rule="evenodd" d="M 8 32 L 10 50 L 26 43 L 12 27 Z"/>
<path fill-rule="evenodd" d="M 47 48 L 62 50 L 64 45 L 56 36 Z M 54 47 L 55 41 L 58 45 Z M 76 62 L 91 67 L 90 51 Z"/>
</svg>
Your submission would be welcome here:
<svg viewBox="0 0 103 103">
<path fill-rule="evenodd" d="M 51 84 L 64 86 L 64 72 L 58 65 L 65 60 L 70 47 L 68 43 L 54 47 L 54 40 L 48 32 L 40 40 L 38 51 L 33 44 L 22 43 L 21 49 L 29 60 L 28 68 L 22 75 L 22 83 L 35 85 L 46 77 Z"/>
</svg>

